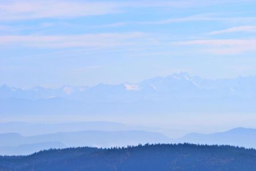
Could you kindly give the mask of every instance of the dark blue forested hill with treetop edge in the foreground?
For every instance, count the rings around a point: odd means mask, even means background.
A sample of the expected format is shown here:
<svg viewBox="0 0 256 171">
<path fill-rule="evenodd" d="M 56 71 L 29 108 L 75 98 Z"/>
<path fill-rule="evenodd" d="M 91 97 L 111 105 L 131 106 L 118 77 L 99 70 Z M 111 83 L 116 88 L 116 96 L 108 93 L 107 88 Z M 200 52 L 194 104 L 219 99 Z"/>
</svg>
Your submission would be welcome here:
<svg viewBox="0 0 256 171">
<path fill-rule="evenodd" d="M 228 145 L 156 144 L 127 148 L 50 149 L 0 157 L 0 170 L 255 170 L 256 150 Z"/>
</svg>

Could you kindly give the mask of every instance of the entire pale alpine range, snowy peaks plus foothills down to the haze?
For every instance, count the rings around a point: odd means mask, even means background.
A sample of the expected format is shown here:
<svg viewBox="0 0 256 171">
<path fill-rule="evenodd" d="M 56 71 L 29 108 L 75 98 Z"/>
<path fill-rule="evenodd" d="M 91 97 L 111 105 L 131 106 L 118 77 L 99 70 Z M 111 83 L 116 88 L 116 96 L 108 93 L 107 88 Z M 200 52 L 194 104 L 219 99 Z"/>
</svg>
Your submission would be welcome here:
<svg viewBox="0 0 256 171">
<path fill-rule="evenodd" d="M 0 115 L 256 112 L 255 103 L 255 76 L 208 80 L 178 73 L 138 84 L 0 87 Z"/>
</svg>

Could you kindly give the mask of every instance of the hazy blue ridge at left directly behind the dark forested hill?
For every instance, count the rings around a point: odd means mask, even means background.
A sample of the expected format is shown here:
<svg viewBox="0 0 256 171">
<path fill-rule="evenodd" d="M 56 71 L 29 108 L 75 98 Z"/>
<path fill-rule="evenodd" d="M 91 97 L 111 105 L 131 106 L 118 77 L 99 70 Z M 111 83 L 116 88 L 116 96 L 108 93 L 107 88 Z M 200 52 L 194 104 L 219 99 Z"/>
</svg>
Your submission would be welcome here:
<svg viewBox="0 0 256 171">
<path fill-rule="evenodd" d="M 125 147 L 146 143 L 170 143 L 171 139 L 157 132 L 96 131 L 57 132 L 36 136 L 17 133 L 0 134 L 0 155 L 29 155 L 49 148 Z"/>
</svg>

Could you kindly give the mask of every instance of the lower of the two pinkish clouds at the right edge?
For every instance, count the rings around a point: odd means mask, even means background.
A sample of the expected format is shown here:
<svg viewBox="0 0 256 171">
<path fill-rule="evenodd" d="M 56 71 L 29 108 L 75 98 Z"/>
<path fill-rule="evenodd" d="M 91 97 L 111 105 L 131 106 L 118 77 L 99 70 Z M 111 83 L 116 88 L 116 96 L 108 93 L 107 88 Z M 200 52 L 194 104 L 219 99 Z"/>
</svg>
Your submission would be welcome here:
<svg viewBox="0 0 256 171">
<path fill-rule="evenodd" d="M 226 55 L 256 52 L 256 39 L 191 40 L 175 42 L 172 45 L 197 45 L 201 51 Z"/>
</svg>

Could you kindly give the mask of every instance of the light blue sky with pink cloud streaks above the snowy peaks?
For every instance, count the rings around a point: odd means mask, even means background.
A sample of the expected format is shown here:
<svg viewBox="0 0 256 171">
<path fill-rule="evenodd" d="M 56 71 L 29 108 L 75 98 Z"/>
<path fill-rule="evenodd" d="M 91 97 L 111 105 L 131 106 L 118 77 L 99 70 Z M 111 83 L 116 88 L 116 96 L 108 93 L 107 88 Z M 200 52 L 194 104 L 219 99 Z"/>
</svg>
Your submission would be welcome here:
<svg viewBox="0 0 256 171">
<path fill-rule="evenodd" d="M 0 0 L 0 85 L 256 75 L 256 1 Z"/>
</svg>

